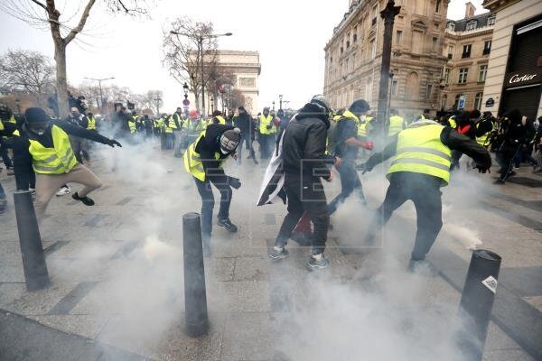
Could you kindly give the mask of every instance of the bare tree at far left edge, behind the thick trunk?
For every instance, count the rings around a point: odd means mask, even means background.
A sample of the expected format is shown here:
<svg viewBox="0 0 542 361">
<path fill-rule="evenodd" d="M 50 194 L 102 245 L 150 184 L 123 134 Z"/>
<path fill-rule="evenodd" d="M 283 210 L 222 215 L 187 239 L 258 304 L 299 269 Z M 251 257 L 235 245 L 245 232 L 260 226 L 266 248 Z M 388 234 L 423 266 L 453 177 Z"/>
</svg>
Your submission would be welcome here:
<svg viewBox="0 0 542 361">
<path fill-rule="evenodd" d="M 37 51 L 7 51 L 0 56 L 0 89 L 3 93 L 24 93 L 43 106 L 53 90 L 54 68 Z"/>
</svg>

